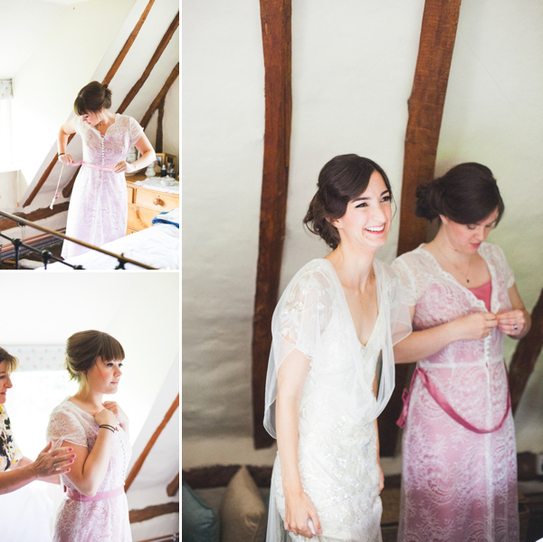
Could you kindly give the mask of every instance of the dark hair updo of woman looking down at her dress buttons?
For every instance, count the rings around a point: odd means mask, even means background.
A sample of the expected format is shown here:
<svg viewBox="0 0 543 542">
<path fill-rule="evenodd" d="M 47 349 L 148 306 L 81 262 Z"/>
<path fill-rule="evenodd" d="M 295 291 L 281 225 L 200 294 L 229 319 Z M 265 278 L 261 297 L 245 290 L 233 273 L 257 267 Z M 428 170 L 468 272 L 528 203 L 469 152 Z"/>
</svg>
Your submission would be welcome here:
<svg viewBox="0 0 543 542">
<path fill-rule="evenodd" d="M 455 223 L 481 222 L 495 209 L 499 223 L 505 210 L 496 179 L 487 166 L 468 162 L 416 188 L 414 214 L 433 220 L 440 214 Z"/>
</svg>

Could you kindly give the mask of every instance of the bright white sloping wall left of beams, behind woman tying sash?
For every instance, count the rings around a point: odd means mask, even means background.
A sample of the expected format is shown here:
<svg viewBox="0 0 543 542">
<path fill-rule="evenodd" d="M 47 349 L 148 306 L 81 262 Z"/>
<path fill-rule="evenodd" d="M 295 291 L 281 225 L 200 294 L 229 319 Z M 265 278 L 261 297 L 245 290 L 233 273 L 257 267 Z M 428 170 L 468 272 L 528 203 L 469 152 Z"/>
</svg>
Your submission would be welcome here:
<svg viewBox="0 0 543 542">
<path fill-rule="evenodd" d="M 27 184 L 134 1 L 93 0 L 66 8 L 14 75 L 14 160 Z M 24 26 L 21 30 L 31 31 Z"/>
</svg>

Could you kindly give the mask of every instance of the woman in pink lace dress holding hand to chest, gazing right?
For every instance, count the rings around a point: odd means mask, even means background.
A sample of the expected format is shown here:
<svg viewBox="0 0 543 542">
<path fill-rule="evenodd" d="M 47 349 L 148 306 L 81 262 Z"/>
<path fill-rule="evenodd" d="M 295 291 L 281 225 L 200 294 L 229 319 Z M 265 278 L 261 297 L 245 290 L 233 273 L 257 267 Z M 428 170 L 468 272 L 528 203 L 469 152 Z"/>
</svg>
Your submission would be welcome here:
<svg viewBox="0 0 543 542">
<path fill-rule="evenodd" d="M 79 381 L 77 394 L 56 406 L 47 438 L 71 446 L 77 458 L 62 474 L 66 497 L 53 542 L 131 542 L 124 480 L 131 449 L 129 420 L 103 395 L 119 387 L 124 350 L 107 333 L 75 333 L 66 345 L 66 366 Z"/>
</svg>

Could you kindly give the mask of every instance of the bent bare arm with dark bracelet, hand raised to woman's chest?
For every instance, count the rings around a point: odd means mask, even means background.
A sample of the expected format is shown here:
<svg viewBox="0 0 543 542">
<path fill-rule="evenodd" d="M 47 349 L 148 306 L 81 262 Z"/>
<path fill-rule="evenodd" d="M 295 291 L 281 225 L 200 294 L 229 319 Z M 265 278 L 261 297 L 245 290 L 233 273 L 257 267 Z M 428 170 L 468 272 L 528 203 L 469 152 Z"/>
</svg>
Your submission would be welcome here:
<svg viewBox="0 0 543 542">
<path fill-rule="evenodd" d="M 109 424 L 117 427 L 119 423 L 115 414 L 105 408 L 96 414 L 94 418 L 99 425 Z M 110 465 L 111 442 L 116 436 L 107 427 L 101 427 L 90 452 L 85 446 L 62 442 L 62 445 L 70 444 L 73 446 L 77 454 L 71 471 L 66 476 L 83 495 L 94 497 L 98 492 Z"/>
</svg>

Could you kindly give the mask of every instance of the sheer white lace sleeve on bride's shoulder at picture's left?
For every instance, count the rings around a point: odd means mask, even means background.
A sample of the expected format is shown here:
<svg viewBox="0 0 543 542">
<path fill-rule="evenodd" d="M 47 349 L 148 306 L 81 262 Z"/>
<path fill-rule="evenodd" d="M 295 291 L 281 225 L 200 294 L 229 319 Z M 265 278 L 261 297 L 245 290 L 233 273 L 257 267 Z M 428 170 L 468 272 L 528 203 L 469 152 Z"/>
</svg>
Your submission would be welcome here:
<svg viewBox="0 0 543 542">
<path fill-rule="evenodd" d="M 275 438 L 277 374 L 281 363 L 298 350 L 311 359 L 331 311 L 328 278 L 311 267 L 302 268 L 281 296 L 271 319 L 271 350 L 266 377 L 264 427 Z"/>
</svg>

